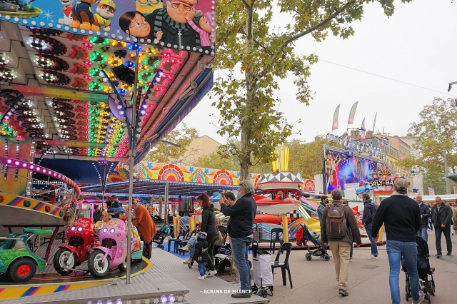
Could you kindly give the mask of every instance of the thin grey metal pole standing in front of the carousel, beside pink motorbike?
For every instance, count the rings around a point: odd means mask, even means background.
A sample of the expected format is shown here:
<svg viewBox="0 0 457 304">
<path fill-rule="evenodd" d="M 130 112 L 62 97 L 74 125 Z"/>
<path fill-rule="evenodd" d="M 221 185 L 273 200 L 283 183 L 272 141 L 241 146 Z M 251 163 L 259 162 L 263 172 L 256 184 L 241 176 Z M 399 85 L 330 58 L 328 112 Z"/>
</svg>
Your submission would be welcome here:
<svg viewBox="0 0 457 304">
<path fill-rule="evenodd" d="M 133 111 L 131 111 L 131 129 L 130 129 L 130 165 L 129 165 L 129 209 L 128 209 L 128 213 L 127 213 L 127 216 L 128 216 L 128 223 L 129 223 L 129 227 L 127 228 L 127 271 L 126 271 L 126 283 L 127 284 L 130 284 L 130 262 L 131 262 L 131 248 L 130 248 L 130 245 L 131 245 L 131 229 L 132 229 L 132 225 L 131 225 L 131 203 L 132 203 L 132 199 L 134 197 L 134 157 L 135 157 L 135 146 L 134 146 L 134 142 L 135 142 L 135 138 L 134 138 L 134 134 L 135 134 L 135 129 L 136 129 L 136 103 L 137 103 L 137 100 L 136 100 L 136 96 L 138 95 L 137 94 L 137 91 L 138 91 L 138 65 L 139 65 L 139 62 L 138 62 L 138 57 L 139 57 L 139 52 L 140 52 L 140 49 L 136 49 L 136 56 L 135 56 L 135 83 L 134 83 L 134 93 L 133 93 L 133 99 L 134 99 L 134 102 L 132 104 L 133 106 Z M 128 119 L 128 118 L 127 118 Z"/>
</svg>

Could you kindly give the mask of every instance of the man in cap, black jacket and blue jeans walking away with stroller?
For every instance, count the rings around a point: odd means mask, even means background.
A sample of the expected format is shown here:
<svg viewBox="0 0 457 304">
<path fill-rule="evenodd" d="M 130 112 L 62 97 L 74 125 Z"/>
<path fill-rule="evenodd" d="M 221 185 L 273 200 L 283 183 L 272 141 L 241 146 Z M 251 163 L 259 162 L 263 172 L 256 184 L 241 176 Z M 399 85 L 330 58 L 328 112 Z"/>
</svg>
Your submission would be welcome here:
<svg viewBox="0 0 457 304">
<path fill-rule="evenodd" d="M 384 223 L 386 227 L 386 250 L 391 272 L 388 283 L 391 288 L 392 304 L 400 304 L 400 275 L 401 257 L 406 263 L 409 273 L 409 285 L 413 304 L 418 304 L 425 298 L 419 290 L 419 275 L 417 273 L 416 233 L 421 228 L 421 214 L 418 203 L 408 198 L 408 181 L 397 178 L 393 181 L 394 191 L 385 198 L 373 219 L 371 237 L 378 241 L 378 231 Z"/>
</svg>

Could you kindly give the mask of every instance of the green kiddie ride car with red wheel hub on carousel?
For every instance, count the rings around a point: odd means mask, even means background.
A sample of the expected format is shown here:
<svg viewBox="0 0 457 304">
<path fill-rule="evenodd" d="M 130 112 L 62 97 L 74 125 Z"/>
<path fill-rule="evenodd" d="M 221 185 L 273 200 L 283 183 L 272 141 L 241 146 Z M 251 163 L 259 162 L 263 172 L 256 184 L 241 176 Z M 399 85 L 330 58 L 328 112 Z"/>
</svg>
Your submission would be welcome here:
<svg viewBox="0 0 457 304">
<path fill-rule="evenodd" d="M 33 235 L 52 234 L 52 230 L 24 228 L 23 231 Z M 5 273 L 11 280 L 26 283 L 35 275 L 36 270 L 46 268 L 46 260 L 31 253 L 26 234 L 10 233 L 0 239 L 5 240 L 0 246 L 0 273 Z"/>
</svg>

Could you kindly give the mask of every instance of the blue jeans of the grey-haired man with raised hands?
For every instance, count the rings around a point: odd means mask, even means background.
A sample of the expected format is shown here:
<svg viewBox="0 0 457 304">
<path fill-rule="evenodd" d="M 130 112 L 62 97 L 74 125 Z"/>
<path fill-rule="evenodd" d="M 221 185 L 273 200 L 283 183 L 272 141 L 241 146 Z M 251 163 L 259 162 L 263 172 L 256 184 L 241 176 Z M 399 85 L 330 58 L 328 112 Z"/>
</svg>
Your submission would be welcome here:
<svg viewBox="0 0 457 304">
<path fill-rule="evenodd" d="M 240 273 L 241 292 L 251 290 L 251 270 L 249 270 L 248 250 L 253 238 L 231 238 L 231 254 L 236 269 Z"/>
</svg>

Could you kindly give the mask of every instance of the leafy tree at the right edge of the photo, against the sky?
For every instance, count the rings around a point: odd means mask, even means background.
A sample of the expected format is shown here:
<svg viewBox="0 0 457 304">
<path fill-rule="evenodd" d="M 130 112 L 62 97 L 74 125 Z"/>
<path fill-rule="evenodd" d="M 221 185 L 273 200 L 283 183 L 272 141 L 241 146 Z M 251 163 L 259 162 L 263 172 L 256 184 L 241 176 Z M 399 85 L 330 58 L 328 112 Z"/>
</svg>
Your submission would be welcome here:
<svg viewBox="0 0 457 304">
<path fill-rule="evenodd" d="M 416 166 L 424 171 L 424 186 L 446 193 L 443 149 L 446 149 L 448 171 L 457 173 L 457 111 L 452 98 L 433 99 L 419 113 L 419 121 L 411 123 L 408 136 L 414 136 L 418 151 Z"/>
</svg>

